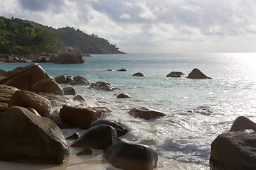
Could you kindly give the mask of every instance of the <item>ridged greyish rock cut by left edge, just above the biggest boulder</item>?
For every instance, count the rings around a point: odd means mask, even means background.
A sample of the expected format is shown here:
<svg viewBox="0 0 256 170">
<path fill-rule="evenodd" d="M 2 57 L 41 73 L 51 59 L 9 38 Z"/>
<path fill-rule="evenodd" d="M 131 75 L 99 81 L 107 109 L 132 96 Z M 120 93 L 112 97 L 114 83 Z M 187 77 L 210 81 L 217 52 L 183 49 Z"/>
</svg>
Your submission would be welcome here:
<svg viewBox="0 0 256 170">
<path fill-rule="evenodd" d="M 10 98 L 17 90 L 16 87 L 0 84 L 0 112 L 8 108 Z"/>
</svg>

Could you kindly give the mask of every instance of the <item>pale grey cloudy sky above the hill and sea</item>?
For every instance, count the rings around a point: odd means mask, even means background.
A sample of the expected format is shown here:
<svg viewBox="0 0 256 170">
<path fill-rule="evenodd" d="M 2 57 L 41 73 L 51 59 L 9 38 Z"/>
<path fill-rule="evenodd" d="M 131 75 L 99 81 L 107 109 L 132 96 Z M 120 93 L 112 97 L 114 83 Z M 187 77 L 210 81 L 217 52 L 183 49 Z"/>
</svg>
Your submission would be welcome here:
<svg viewBox="0 0 256 170">
<path fill-rule="evenodd" d="M 95 33 L 134 52 L 256 52 L 255 0 L 1 0 L 0 16 Z"/>
</svg>

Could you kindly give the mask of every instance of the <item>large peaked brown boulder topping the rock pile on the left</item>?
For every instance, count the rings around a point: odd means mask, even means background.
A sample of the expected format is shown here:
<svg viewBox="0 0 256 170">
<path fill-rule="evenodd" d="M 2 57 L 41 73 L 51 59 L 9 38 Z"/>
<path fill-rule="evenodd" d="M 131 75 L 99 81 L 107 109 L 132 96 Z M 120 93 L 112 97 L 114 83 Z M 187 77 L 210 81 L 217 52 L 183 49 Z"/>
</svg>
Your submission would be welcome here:
<svg viewBox="0 0 256 170">
<path fill-rule="evenodd" d="M 6 78 L 0 80 L 0 84 L 14 86 L 26 91 L 32 91 L 33 85 L 38 81 L 53 79 L 53 77 L 50 77 L 37 63 L 26 67 L 18 67 L 12 71 L 6 72 L 3 76 Z"/>
</svg>

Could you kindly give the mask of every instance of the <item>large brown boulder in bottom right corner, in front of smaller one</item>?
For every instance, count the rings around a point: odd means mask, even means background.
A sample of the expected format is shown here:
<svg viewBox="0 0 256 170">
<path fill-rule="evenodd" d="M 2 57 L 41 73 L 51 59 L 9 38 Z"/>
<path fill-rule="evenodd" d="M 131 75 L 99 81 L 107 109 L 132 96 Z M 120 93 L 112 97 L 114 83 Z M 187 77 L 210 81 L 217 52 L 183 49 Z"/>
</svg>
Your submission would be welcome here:
<svg viewBox="0 0 256 170">
<path fill-rule="evenodd" d="M 211 170 L 256 169 L 255 132 L 225 132 L 211 144 Z"/>
</svg>

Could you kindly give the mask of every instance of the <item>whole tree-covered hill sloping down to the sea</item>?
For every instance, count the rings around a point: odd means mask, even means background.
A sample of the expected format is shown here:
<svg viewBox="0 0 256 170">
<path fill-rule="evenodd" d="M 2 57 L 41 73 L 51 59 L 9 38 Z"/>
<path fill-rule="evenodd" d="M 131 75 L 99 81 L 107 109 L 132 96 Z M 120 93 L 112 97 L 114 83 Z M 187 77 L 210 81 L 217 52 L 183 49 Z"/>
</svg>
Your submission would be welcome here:
<svg viewBox="0 0 256 170">
<path fill-rule="evenodd" d="M 58 52 L 66 46 L 78 47 L 86 54 L 122 54 L 116 45 L 95 34 L 65 27 L 52 28 L 33 21 L 0 16 L 0 53 L 35 54 Z"/>
</svg>

